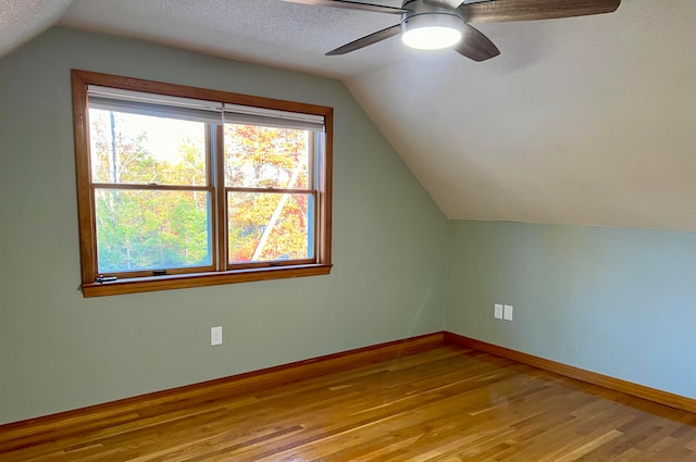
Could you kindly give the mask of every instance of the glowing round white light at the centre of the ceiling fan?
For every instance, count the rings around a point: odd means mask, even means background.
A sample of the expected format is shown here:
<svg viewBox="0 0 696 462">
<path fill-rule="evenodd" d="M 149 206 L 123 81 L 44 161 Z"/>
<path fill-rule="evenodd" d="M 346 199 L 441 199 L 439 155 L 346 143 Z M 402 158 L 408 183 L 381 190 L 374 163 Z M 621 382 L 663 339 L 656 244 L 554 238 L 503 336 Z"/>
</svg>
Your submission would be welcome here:
<svg viewBox="0 0 696 462">
<path fill-rule="evenodd" d="M 401 41 L 417 50 L 449 48 L 457 45 L 462 35 L 462 20 L 453 14 L 418 14 L 401 23 Z"/>
</svg>

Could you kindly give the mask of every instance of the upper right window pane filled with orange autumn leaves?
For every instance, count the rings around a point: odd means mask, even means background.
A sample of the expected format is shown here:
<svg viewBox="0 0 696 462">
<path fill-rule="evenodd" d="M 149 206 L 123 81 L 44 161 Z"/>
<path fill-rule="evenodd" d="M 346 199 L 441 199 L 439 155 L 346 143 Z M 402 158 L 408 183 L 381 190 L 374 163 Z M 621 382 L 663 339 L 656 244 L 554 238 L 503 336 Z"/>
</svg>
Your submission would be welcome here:
<svg viewBox="0 0 696 462">
<path fill-rule="evenodd" d="M 225 186 L 308 189 L 310 134 L 225 124 Z"/>
</svg>

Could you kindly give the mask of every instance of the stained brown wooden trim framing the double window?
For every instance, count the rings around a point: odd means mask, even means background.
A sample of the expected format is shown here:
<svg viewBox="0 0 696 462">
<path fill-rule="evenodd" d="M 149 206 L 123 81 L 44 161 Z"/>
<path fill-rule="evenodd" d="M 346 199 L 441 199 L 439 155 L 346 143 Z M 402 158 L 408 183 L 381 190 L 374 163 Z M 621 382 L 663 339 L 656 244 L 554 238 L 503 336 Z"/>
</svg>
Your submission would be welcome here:
<svg viewBox="0 0 696 462">
<path fill-rule="evenodd" d="M 152 80 L 121 77 L 88 71 L 71 71 L 73 91 L 73 120 L 75 138 L 75 168 L 77 186 L 77 212 L 79 226 L 79 252 L 82 262 L 82 290 L 84 297 L 101 297 L 121 294 L 135 294 L 156 290 L 169 290 L 190 287 L 204 287 L 223 284 L 271 280 L 290 277 L 318 276 L 331 273 L 332 245 L 332 182 L 333 182 L 333 108 L 284 101 L 272 98 L 256 97 L 220 90 L 165 84 Z M 307 264 L 306 261 L 282 262 L 273 266 L 259 267 L 254 264 L 231 271 L 224 269 L 224 261 L 220 257 L 226 255 L 227 242 L 225 223 L 215 223 L 214 239 L 219 242 L 217 270 L 201 273 L 175 274 L 175 271 L 162 276 L 128 277 L 113 282 L 97 283 L 97 229 L 95 208 L 92 203 L 92 184 L 90 183 L 89 157 L 89 126 L 87 87 L 89 85 L 122 88 L 156 95 L 177 96 L 199 100 L 212 100 L 231 104 L 256 108 L 275 109 L 281 111 L 322 115 L 325 122 L 325 151 L 319 172 L 318 210 L 321 211 L 316 220 L 316 262 Z M 215 134 L 221 142 L 222 130 Z M 220 162 L 221 159 L 215 159 Z M 220 170 L 217 170 L 220 171 Z M 225 195 L 224 187 L 220 187 L 221 177 L 215 178 L 217 193 Z M 124 186 L 127 188 L 127 186 Z M 140 185 L 138 186 L 140 188 Z M 161 186 L 160 186 L 161 188 Z M 178 189 L 178 188 L 177 188 Z M 206 188 L 203 188 L 206 189 Z M 220 199 L 220 198 L 219 198 Z M 217 207 L 224 207 L 224 201 L 216 201 Z M 215 215 L 217 216 L 217 215 Z M 222 264 L 222 267 L 220 266 Z M 172 274 L 174 273 L 174 274 Z"/>
</svg>

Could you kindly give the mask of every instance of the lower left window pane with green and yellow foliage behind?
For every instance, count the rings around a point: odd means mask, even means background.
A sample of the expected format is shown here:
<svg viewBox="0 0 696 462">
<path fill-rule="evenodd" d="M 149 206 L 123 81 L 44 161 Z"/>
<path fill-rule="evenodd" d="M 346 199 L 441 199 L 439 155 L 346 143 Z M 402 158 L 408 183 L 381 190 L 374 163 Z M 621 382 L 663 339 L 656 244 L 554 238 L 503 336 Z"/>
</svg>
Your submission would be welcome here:
<svg viewBox="0 0 696 462">
<path fill-rule="evenodd" d="M 98 189 L 99 273 L 212 264 L 208 191 Z"/>
</svg>

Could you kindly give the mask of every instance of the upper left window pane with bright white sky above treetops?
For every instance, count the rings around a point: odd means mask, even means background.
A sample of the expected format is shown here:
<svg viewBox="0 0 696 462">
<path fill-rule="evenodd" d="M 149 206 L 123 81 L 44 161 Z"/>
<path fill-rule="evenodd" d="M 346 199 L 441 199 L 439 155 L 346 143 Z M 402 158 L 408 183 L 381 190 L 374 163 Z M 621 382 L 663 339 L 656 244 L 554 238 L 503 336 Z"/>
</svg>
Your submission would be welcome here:
<svg viewBox="0 0 696 462">
<path fill-rule="evenodd" d="M 206 124 L 89 110 L 94 183 L 206 186 Z"/>
</svg>

